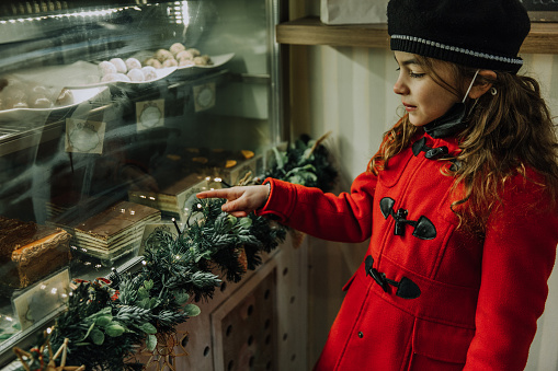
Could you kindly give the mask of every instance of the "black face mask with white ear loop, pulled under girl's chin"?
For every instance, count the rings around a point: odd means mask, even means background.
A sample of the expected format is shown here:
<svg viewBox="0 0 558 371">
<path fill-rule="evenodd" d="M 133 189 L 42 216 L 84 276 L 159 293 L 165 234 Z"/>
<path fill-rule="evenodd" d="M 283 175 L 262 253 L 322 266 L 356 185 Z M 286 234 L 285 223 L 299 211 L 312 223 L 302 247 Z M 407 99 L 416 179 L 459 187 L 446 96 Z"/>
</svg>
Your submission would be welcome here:
<svg viewBox="0 0 558 371">
<path fill-rule="evenodd" d="M 455 103 L 443 116 L 424 126 L 424 130 L 428 135 L 432 138 L 451 137 L 467 127 L 468 123 L 465 120 L 465 116 L 467 115 L 465 101 L 467 101 L 467 96 L 469 95 L 478 74 L 479 70 L 475 72 L 475 77 L 472 78 L 469 89 L 467 89 L 467 93 L 465 93 L 462 102 Z"/>
</svg>

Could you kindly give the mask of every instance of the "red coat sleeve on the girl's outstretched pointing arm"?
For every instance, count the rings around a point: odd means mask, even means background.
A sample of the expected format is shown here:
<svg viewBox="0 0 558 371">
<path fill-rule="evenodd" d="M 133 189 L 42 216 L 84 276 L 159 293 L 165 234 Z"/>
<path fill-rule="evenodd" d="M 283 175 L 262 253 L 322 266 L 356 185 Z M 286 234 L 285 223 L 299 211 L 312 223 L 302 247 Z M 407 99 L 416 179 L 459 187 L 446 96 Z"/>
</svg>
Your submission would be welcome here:
<svg viewBox="0 0 558 371">
<path fill-rule="evenodd" d="M 271 193 L 258 215 L 323 240 L 362 242 L 371 236 L 376 175 L 358 175 L 351 192 L 339 196 L 273 178 L 264 183 L 271 184 Z"/>
</svg>

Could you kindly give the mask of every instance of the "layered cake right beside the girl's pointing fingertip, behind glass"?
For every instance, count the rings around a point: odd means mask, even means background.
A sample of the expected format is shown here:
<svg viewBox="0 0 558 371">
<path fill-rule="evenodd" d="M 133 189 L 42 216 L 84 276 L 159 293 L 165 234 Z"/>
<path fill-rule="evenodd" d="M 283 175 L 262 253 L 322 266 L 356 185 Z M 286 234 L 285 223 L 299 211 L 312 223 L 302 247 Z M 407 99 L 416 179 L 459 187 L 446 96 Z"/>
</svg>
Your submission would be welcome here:
<svg viewBox="0 0 558 371">
<path fill-rule="evenodd" d="M 128 199 L 161 210 L 162 213 L 183 221 L 189 212 L 191 200 L 197 193 L 207 189 L 208 183 L 205 177 L 191 174 L 158 193 L 129 190 Z"/>
</svg>

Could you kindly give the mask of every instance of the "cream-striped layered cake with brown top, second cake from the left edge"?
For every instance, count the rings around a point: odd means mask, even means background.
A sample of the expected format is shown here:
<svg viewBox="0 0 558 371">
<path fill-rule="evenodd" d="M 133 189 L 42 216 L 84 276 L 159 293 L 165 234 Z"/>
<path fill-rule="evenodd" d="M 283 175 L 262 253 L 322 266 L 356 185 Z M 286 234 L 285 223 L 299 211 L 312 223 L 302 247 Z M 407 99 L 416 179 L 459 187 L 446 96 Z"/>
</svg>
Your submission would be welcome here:
<svg viewBox="0 0 558 371">
<path fill-rule="evenodd" d="M 80 253 L 113 260 L 139 248 L 146 223 L 159 221 L 159 210 L 121 201 L 76 225 L 72 244 Z"/>
</svg>

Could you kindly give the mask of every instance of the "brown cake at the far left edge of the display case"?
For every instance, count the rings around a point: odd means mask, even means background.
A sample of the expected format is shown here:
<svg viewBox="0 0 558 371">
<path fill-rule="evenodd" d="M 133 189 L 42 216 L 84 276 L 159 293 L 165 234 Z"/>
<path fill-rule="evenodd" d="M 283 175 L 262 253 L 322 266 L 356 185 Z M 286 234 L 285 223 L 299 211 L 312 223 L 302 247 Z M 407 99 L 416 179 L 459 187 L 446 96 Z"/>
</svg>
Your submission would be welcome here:
<svg viewBox="0 0 558 371">
<path fill-rule="evenodd" d="M 70 260 L 70 234 L 59 228 L 0 217 L 0 282 L 22 289 Z"/>
</svg>

